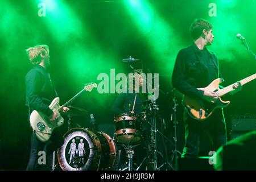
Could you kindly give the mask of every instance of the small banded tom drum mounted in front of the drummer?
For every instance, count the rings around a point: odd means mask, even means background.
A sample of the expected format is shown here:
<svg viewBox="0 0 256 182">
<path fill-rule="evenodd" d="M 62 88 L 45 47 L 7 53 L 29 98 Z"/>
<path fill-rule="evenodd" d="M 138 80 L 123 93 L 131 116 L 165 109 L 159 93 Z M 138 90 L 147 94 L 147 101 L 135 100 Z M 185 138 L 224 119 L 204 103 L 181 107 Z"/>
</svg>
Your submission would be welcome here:
<svg viewBox="0 0 256 182">
<path fill-rule="evenodd" d="M 136 143 L 141 140 L 140 123 L 132 114 L 119 115 L 115 122 L 115 140 L 119 143 Z"/>
</svg>

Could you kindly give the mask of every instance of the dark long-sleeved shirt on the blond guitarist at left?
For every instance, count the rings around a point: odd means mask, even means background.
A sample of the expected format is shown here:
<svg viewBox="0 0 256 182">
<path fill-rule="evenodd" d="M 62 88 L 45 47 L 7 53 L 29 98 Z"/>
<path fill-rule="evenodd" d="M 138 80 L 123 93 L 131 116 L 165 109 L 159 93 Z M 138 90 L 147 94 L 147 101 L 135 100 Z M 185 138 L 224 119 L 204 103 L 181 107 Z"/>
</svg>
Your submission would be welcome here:
<svg viewBox="0 0 256 182">
<path fill-rule="evenodd" d="M 52 114 L 49 109 L 53 98 L 57 97 L 52 86 L 49 72 L 41 65 L 36 65 L 26 75 L 26 105 L 33 110 L 43 111 L 48 116 Z"/>
</svg>

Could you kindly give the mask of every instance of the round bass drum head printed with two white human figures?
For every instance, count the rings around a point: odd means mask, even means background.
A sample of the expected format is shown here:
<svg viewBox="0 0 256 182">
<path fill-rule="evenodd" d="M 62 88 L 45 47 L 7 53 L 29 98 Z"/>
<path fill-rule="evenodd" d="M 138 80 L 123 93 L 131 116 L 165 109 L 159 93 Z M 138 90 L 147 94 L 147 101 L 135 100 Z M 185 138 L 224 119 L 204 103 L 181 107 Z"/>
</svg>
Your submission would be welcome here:
<svg viewBox="0 0 256 182">
<path fill-rule="evenodd" d="M 94 133 L 75 128 L 64 134 L 64 144 L 58 149 L 57 156 L 63 171 L 88 171 L 99 158 Z"/>
</svg>

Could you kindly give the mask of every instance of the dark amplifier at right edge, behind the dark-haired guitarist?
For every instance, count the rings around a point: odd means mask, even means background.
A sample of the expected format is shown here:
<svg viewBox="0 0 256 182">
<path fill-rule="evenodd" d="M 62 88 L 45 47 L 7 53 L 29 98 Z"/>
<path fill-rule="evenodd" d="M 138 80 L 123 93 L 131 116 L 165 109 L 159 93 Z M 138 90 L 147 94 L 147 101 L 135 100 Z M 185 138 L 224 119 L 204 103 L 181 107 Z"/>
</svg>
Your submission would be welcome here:
<svg viewBox="0 0 256 182">
<path fill-rule="evenodd" d="M 256 130 L 256 115 L 232 115 L 230 132 Z"/>
</svg>

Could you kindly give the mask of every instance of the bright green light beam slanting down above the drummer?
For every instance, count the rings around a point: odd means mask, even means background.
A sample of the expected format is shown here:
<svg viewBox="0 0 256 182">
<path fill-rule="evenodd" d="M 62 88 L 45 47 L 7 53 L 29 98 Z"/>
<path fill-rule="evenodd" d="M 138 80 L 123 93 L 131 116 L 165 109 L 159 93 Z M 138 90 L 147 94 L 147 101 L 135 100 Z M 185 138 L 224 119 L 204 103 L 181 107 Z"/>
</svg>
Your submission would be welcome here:
<svg viewBox="0 0 256 182">
<path fill-rule="evenodd" d="M 170 23 L 160 16 L 147 1 L 125 1 L 131 18 L 137 23 L 138 29 L 146 36 L 152 56 L 158 60 L 163 73 L 170 74 L 174 67 L 174 57 L 181 48 L 181 41 Z"/>
</svg>

